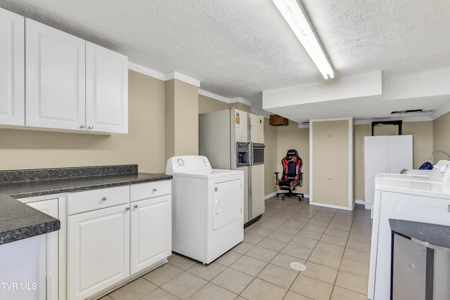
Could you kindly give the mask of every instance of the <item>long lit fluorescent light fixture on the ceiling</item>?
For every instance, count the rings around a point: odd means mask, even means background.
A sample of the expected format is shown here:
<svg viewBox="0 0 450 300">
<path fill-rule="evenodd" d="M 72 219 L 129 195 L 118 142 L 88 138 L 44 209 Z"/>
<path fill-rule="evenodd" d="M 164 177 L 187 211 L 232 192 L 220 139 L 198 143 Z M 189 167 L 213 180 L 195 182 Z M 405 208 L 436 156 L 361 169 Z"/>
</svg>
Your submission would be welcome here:
<svg viewBox="0 0 450 300">
<path fill-rule="evenodd" d="M 272 0 L 293 30 L 297 39 L 302 43 L 311 60 L 316 64 L 323 78 L 334 78 L 335 72 L 331 67 L 325 51 L 312 29 L 300 0 Z"/>
</svg>

